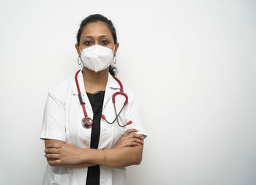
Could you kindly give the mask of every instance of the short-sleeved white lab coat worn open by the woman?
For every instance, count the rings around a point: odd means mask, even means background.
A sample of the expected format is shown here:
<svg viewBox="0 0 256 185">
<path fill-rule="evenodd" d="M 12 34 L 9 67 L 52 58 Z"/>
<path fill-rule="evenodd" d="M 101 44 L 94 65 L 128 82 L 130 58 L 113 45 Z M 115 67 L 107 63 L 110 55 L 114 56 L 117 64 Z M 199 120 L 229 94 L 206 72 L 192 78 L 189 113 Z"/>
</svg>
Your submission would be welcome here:
<svg viewBox="0 0 256 185">
<path fill-rule="evenodd" d="M 81 71 L 78 73 L 78 83 L 83 99 L 86 102 L 86 112 L 90 118 L 93 118 L 93 111 L 86 95 L 83 83 L 83 74 Z M 128 96 L 128 103 L 119 116 L 119 123 L 126 124 L 131 120 L 132 124 L 129 124 L 126 127 L 119 127 L 116 121 L 114 124 L 107 124 L 103 119 L 101 119 L 99 149 L 112 148 L 127 129 L 138 129 L 138 134 L 146 137 L 146 131 L 143 129 L 138 99 L 134 92 L 124 84 L 123 86 L 124 92 Z M 116 91 L 120 91 L 120 86 L 109 73 L 102 107 L 102 114 L 105 115 L 108 121 L 113 121 L 116 117 L 112 102 L 112 95 Z M 121 110 L 122 105 L 124 105 L 124 97 L 117 95 L 117 111 Z M 49 92 L 45 105 L 40 139 L 49 138 L 63 140 L 65 143 L 72 143 L 80 148 L 90 148 L 91 128 L 86 129 L 83 127 L 83 118 L 83 109 L 78 99 L 78 90 L 75 85 L 74 74 L 72 78 L 60 83 Z M 42 184 L 86 184 L 87 169 L 87 167 L 71 168 L 61 166 L 52 167 L 47 165 Z M 125 174 L 125 167 L 115 168 L 100 165 L 99 181 L 100 184 L 126 184 Z"/>
</svg>

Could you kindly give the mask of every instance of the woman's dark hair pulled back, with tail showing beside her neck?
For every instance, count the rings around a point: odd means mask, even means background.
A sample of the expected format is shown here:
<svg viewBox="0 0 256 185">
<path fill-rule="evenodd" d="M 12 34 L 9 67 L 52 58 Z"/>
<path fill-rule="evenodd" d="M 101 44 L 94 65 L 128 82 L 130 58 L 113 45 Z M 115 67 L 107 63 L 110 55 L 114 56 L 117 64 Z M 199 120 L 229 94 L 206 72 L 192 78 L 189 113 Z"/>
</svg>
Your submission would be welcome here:
<svg viewBox="0 0 256 185">
<path fill-rule="evenodd" d="M 87 18 L 82 20 L 82 22 L 80 23 L 80 28 L 78 29 L 78 34 L 77 34 L 78 45 L 80 44 L 80 36 L 82 34 L 83 28 L 88 23 L 94 23 L 94 22 L 97 22 L 97 21 L 102 21 L 102 22 L 104 22 L 108 25 L 108 29 L 110 29 L 110 31 L 113 35 L 114 43 L 116 45 L 116 42 L 117 42 L 116 29 L 113 26 L 112 21 L 109 20 L 108 18 L 104 17 L 103 15 L 100 15 L 100 14 L 89 15 Z M 113 67 L 112 65 L 110 65 L 109 72 L 110 72 L 111 75 L 115 76 L 116 75 L 116 67 Z"/>
</svg>

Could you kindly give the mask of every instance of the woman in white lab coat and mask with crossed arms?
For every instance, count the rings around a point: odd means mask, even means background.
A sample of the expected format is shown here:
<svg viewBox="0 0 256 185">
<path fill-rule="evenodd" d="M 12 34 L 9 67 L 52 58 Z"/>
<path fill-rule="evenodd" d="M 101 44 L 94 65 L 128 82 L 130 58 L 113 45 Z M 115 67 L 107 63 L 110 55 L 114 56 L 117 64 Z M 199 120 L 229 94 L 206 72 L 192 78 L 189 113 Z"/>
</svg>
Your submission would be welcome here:
<svg viewBox="0 0 256 185">
<path fill-rule="evenodd" d="M 136 95 L 114 77 L 118 46 L 108 18 L 80 23 L 75 48 L 83 69 L 53 88 L 45 105 L 42 184 L 125 184 L 125 167 L 140 164 L 146 132 Z"/>
</svg>

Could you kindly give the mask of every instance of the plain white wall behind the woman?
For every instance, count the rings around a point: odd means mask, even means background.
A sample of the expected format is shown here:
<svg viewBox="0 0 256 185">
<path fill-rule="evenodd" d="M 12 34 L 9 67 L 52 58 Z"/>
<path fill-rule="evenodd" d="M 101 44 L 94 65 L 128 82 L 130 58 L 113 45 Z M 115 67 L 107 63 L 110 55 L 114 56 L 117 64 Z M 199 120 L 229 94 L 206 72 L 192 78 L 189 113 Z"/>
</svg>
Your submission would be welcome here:
<svg viewBox="0 0 256 185">
<path fill-rule="evenodd" d="M 0 184 L 40 184 L 48 90 L 79 69 L 80 21 L 113 20 L 118 78 L 148 132 L 129 184 L 256 184 L 256 1 L 0 1 Z"/>
</svg>

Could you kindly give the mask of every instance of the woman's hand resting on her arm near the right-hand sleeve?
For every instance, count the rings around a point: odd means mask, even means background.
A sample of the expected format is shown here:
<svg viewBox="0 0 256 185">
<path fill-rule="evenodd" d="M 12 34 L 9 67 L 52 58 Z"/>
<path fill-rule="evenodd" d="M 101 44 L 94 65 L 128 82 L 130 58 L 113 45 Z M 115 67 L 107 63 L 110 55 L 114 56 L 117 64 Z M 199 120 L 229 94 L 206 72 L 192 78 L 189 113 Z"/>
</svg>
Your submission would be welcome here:
<svg viewBox="0 0 256 185">
<path fill-rule="evenodd" d="M 135 132 L 138 132 L 138 129 L 127 129 L 127 131 L 124 132 L 124 135 L 120 137 L 113 148 L 143 145 L 143 135 L 138 135 Z"/>
</svg>

